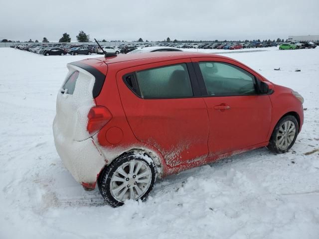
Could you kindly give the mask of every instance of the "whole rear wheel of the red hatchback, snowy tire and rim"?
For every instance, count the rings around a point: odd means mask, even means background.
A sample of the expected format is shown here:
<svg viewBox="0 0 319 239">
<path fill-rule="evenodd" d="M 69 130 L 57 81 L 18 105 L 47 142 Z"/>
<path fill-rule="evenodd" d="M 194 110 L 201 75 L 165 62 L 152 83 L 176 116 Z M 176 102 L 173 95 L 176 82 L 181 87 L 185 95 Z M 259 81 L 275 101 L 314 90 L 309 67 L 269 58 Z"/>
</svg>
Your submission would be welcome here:
<svg viewBox="0 0 319 239">
<path fill-rule="evenodd" d="M 104 200 L 113 207 L 126 200 L 145 200 L 153 190 L 156 167 L 146 153 L 121 155 L 102 171 L 98 187 Z"/>
</svg>

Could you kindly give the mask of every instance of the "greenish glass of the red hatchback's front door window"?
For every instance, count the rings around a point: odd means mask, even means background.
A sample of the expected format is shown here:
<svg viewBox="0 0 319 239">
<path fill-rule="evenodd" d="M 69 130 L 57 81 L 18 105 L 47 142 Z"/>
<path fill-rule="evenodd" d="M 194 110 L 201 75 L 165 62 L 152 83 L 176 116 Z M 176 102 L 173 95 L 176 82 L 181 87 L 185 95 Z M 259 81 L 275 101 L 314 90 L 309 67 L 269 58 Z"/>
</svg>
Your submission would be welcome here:
<svg viewBox="0 0 319 239">
<path fill-rule="evenodd" d="M 237 96 L 255 93 L 254 76 L 227 63 L 199 62 L 209 96 Z"/>
</svg>

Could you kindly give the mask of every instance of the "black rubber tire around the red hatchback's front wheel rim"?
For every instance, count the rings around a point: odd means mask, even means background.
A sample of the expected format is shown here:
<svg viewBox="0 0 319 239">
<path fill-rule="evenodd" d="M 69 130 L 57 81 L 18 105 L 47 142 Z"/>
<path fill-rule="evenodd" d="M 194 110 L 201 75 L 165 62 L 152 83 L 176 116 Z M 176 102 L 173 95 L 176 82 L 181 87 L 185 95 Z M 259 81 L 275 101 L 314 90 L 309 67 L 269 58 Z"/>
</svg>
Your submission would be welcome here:
<svg viewBox="0 0 319 239">
<path fill-rule="evenodd" d="M 286 149 L 281 149 L 277 145 L 277 133 L 279 132 L 280 126 L 285 121 L 288 121 L 288 120 L 292 121 L 295 124 L 296 132 L 295 132 L 294 140 L 291 142 L 291 144 Z M 285 152 L 287 152 L 294 145 L 294 143 L 296 141 L 296 138 L 298 136 L 298 132 L 299 132 L 299 124 L 298 124 L 297 119 L 294 116 L 291 116 L 291 115 L 283 117 L 276 124 L 276 126 L 274 128 L 274 131 L 273 131 L 273 133 L 272 133 L 272 135 L 270 137 L 269 144 L 267 145 L 267 148 L 270 151 L 274 152 L 274 153 L 285 153 Z"/>
</svg>

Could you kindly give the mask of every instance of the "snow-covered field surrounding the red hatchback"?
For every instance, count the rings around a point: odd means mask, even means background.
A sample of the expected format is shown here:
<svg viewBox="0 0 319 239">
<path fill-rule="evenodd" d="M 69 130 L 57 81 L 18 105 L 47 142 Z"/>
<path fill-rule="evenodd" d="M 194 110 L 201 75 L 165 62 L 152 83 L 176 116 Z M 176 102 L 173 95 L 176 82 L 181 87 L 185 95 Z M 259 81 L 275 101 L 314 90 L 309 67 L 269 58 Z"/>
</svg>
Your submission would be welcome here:
<svg viewBox="0 0 319 239">
<path fill-rule="evenodd" d="M 265 50 L 227 56 L 305 98 L 294 147 L 169 176 L 147 201 L 111 208 L 74 181 L 53 142 L 66 64 L 88 56 L 0 48 L 0 239 L 318 239 L 319 47 Z"/>
</svg>

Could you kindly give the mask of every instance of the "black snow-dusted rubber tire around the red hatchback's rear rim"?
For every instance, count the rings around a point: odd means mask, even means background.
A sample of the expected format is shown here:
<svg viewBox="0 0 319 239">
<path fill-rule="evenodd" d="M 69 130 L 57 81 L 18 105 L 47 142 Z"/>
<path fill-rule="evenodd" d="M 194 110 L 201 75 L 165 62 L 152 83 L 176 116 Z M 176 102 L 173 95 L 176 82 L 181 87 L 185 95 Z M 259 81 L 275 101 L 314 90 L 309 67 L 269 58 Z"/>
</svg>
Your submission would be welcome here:
<svg viewBox="0 0 319 239">
<path fill-rule="evenodd" d="M 145 163 L 147 163 L 147 165 L 150 167 L 151 169 L 151 183 L 149 185 L 149 188 L 147 189 L 147 191 L 139 198 L 139 200 L 141 199 L 142 201 L 145 200 L 149 194 L 152 192 L 153 188 L 154 188 L 154 184 L 156 181 L 156 166 L 155 163 L 153 162 L 152 158 L 150 158 L 150 162 L 148 162 L 146 159 L 144 159 L 143 157 L 149 157 L 146 153 L 144 154 L 138 154 L 135 152 L 129 152 L 129 153 L 125 153 L 123 155 L 121 155 L 120 157 L 114 159 L 110 165 L 106 166 L 102 172 L 99 175 L 98 178 L 98 188 L 99 191 L 102 195 L 102 197 L 104 198 L 104 200 L 111 205 L 112 207 L 120 207 L 122 205 L 124 205 L 124 202 L 118 201 L 117 199 L 115 199 L 111 193 L 111 179 L 113 174 L 116 172 L 116 170 L 123 165 L 124 163 L 128 162 L 128 161 L 132 161 L 132 160 L 141 160 Z M 151 163 L 152 162 L 152 163 Z"/>
</svg>

